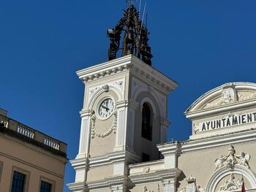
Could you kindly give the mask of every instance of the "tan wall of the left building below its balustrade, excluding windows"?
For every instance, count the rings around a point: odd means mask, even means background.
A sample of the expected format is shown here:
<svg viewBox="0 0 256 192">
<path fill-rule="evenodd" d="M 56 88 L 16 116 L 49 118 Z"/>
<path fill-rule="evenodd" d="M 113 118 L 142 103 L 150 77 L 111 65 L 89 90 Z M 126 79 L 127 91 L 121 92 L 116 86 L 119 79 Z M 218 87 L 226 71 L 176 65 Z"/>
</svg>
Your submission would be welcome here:
<svg viewBox="0 0 256 192">
<path fill-rule="evenodd" d="M 66 159 L 52 155 L 39 147 L 18 139 L 0 135 L 1 191 L 10 191 L 12 172 L 25 172 L 27 191 L 39 191 L 40 180 L 53 183 L 54 191 L 63 191 Z"/>
</svg>

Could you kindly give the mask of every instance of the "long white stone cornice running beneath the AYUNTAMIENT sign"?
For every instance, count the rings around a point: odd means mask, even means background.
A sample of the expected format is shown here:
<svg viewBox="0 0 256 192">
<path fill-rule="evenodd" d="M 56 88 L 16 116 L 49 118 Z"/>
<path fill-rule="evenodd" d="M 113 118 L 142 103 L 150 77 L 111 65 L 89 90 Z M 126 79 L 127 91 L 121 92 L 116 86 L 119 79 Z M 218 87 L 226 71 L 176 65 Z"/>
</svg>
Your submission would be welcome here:
<svg viewBox="0 0 256 192">
<path fill-rule="evenodd" d="M 157 145 L 162 153 L 187 153 L 195 150 L 210 150 L 214 147 L 236 145 L 246 142 L 256 142 L 256 129 L 237 131 L 203 139 L 193 139 L 184 142 L 170 142 Z"/>
</svg>

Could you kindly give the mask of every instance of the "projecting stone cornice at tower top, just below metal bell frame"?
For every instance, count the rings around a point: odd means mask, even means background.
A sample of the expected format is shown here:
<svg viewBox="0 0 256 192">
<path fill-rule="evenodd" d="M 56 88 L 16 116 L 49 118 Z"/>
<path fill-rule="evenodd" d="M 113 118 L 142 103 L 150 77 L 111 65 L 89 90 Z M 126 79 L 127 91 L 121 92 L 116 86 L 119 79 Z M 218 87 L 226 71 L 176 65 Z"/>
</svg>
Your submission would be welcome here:
<svg viewBox="0 0 256 192">
<path fill-rule="evenodd" d="M 78 71 L 77 74 L 80 80 L 86 83 L 127 71 L 131 71 L 147 82 L 151 82 L 152 85 L 165 91 L 165 93 L 173 91 L 178 86 L 177 82 L 166 77 L 153 67 L 143 63 L 143 61 L 134 55 L 127 55 L 103 64 L 91 66 Z"/>
</svg>

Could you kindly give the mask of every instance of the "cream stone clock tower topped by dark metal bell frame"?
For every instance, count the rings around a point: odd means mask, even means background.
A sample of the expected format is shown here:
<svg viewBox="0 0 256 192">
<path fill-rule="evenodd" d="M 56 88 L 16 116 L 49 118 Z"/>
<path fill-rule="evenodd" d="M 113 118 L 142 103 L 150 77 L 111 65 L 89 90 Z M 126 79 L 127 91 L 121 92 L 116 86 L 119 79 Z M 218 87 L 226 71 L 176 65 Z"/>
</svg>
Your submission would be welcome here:
<svg viewBox="0 0 256 192">
<path fill-rule="evenodd" d="M 167 142 L 167 96 L 178 85 L 151 66 L 132 4 L 108 37 L 109 61 L 77 72 L 85 93 L 72 191 L 129 191 L 129 165 L 158 160 L 157 144 Z"/>
</svg>

